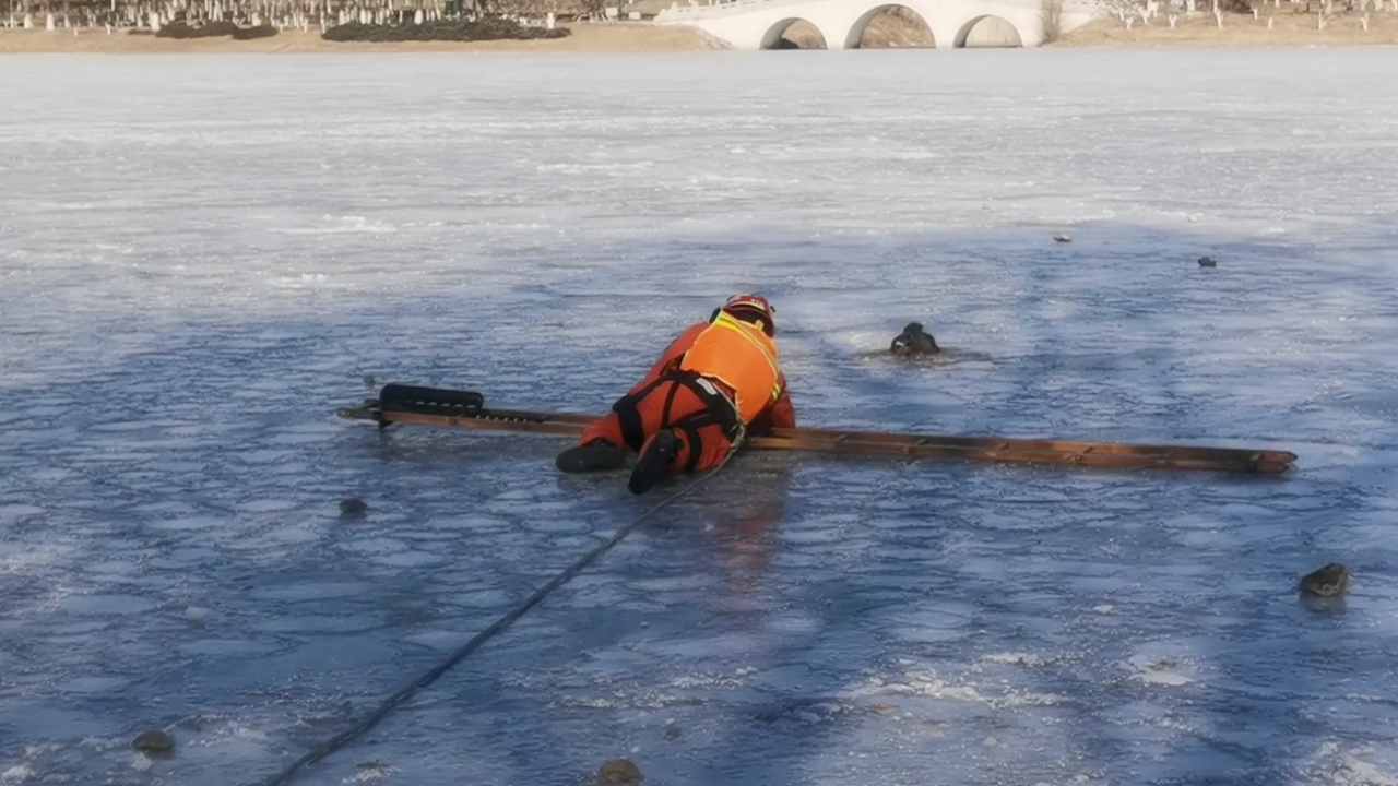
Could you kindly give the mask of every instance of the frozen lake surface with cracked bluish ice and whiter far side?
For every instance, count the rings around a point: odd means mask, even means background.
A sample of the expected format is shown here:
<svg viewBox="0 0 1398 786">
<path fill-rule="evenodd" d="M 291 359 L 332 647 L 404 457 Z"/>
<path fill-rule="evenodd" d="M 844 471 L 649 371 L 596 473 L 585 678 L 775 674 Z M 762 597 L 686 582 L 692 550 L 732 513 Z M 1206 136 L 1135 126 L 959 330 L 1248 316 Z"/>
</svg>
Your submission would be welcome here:
<svg viewBox="0 0 1398 786">
<path fill-rule="evenodd" d="M 654 502 L 363 376 L 603 411 L 742 290 L 808 425 L 1297 469 L 748 455 L 296 783 L 1398 783 L 1392 60 L 0 60 L 0 783 L 338 731 Z"/>
</svg>

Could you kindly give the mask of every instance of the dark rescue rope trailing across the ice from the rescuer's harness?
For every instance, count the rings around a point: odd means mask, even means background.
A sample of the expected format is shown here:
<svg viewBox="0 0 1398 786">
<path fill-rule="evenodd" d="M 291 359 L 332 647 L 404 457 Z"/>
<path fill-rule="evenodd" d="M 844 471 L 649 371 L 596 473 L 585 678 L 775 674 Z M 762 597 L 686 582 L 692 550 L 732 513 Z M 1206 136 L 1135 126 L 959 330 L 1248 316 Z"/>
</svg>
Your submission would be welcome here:
<svg viewBox="0 0 1398 786">
<path fill-rule="evenodd" d="M 719 462 L 719 466 L 716 466 L 713 469 L 713 471 L 710 471 L 707 474 L 703 474 L 703 476 L 700 476 L 700 477 L 689 481 L 688 485 L 685 485 L 684 488 L 681 488 L 675 494 L 671 494 L 670 496 L 661 499 L 658 503 L 656 503 L 654 506 L 651 506 L 650 509 L 647 509 L 642 515 L 636 516 L 629 523 L 624 524 L 610 538 L 607 538 L 600 545 L 597 545 L 596 548 L 593 548 L 591 551 L 589 551 L 587 554 L 584 554 L 583 557 L 580 557 L 576 562 L 573 562 L 566 569 L 563 569 L 563 572 L 561 572 L 556 576 L 554 576 L 552 579 L 549 579 L 548 583 L 545 583 L 544 586 L 541 586 L 537 590 L 534 590 L 534 594 L 531 594 L 527 599 L 524 599 L 523 603 L 520 603 L 519 606 L 516 606 L 514 608 L 512 608 L 509 613 L 506 613 L 503 617 L 500 617 L 495 622 L 491 622 L 491 625 L 487 627 L 484 631 L 481 631 L 480 634 L 475 634 L 474 636 L 471 636 L 471 639 L 468 642 L 466 642 L 464 645 L 461 645 L 460 648 L 457 648 L 456 650 L 453 650 L 440 663 L 438 663 L 432 669 L 428 669 L 426 671 L 422 673 L 422 676 L 414 678 L 412 681 L 404 684 L 401 688 L 398 688 L 397 691 L 394 691 L 393 694 L 390 694 L 389 698 L 383 699 L 383 702 L 380 702 L 379 706 L 372 713 L 368 715 L 368 717 L 365 717 L 359 723 L 355 723 L 350 729 L 345 729 L 344 731 L 336 734 L 334 737 L 330 737 L 324 743 L 320 743 L 319 745 L 310 748 L 310 751 L 308 751 L 305 755 L 302 755 L 296 761 L 294 761 L 289 765 L 287 765 L 285 769 L 282 769 L 281 772 L 278 772 L 277 775 L 274 775 L 271 778 L 260 780 L 259 785 L 260 786 L 284 786 L 285 783 L 291 783 L 292 778 L 301 769 L 319 762 L 320 759 L 326 758 L 327 755 L 330 755 L 330 754 L 338 751 L 340 748 L 345 747 L 355 737 L 359 737 L 361 734 L 363 734 L 369 729 L 373 729 L 380 720 L 383 720 L 390 712 L 393 712 L 393 709 L 396 706 L 398 706 L 400 703 L 403 703 L 404 701 L 407 701 L 408 698 L 411 698 L 414 694 L 417 694 L 418 688 L 425 688 L 425 687 L 431 685 L 432 683 L 436 681 L 438 677 L 440 677 L 442 674 L 446 674 L 453 666 L 456 666 L 457 663 L 460 663 L 466 656 L 468 656 L 473 652 L 475 652 L 477 649 L 480 649 L 481 645 L 484 645 L 487 641 L 492 639 L 495 635 L 498 635 L 499 632 L 502 632 L 505 628 L 509 628 L 516 620 L 519 620 L 520 617 L 523 617 L 530 608 L 534 608 L 541 600 L 544 600 L 544 597 L 548 596 L 548 593 L 554 592 L 555 589 L 558 589 L 559 586 L 562 586 L 563 583 L 566 583 L 569 579 L 572 579 L 573 576 L 576 576 L 579 572 L 582 572 L 583 568 L 586 568 L 587 565 L 590 565 L 594 559 L 597 559 L 603 554 L 607 554 L 608 551 L 611 551 L 611 548 L 614 545 L 617 545 L 626 536 L 629 536 L 632 531 L 635 531 L 635 529 L 639 527 L 651 515 L 654 515 L 656 512 L 658 512 L 661 508 L 670 505 L 675 499 L 679 499 L 681 496 L 689 494 L 699 484 L 702 484 L 702 483 L 707 481 L 709 478 L 712 478 L 713 476 L 719 474 L 719 470 L 721 470 L 724 466 L 727 466 L 728 459 L 731 459 L 733 455 L 738 452 L 738 445 L 742 443 L 742 439 L 744 439 L 744 429 L 740 425 L 738 435 L 733 441 L 733 446 L 724 455 L 723 460 Z"/>
</svg>

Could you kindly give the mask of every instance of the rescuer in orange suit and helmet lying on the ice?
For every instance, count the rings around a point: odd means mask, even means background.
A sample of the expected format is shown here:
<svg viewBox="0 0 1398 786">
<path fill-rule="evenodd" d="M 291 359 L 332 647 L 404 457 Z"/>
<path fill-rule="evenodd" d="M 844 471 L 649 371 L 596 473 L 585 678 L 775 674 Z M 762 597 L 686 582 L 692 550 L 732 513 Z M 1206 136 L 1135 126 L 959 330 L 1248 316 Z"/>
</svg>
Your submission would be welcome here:
<svg viewBox="0 0 1398 786">
<path fill-rule="evenodd" d="M 689 326 L 611 414 L 558 455 L 558 469 L 617 470 L 636 450 L 628 488 L 644 494 L 665 474 L 717 467 L 740 435 L 795 427 L 774 313 L 766 298 L 734 295 Z"/>
</svg>

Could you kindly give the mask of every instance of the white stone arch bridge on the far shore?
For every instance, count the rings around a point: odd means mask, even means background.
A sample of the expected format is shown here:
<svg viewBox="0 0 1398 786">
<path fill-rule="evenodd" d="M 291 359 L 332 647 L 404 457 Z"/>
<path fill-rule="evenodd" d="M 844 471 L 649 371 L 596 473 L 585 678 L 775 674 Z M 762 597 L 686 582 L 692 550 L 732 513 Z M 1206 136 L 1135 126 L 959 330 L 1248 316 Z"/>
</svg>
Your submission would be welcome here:
<svg viewBox="0 0 1398 786">
<path fill-rule="evenodd" d="M 923 17 L 938 49 L 962 46 L 1039 46 L 1047 3 L 1053 0 L 727 0 L 672 4 L 656 24 L 695 27 L 734 49 L 776 49 L 798 21 L 814 25 L 828 49 L 857 49 L 864 28 L 899 6 Z M 1103 14 L 1090 0 L 1060 0 L 1058 31 L 1069 32 Z"/>
</svg>

